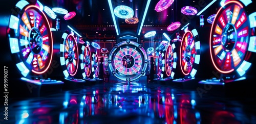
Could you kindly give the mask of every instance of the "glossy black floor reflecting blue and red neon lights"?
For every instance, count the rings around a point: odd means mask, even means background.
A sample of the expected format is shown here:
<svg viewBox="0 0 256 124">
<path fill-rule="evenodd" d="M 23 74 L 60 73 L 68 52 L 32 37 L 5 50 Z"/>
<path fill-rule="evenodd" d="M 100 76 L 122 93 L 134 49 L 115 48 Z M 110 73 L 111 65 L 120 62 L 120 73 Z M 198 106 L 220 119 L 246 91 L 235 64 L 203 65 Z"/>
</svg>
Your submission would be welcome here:
<svg viewBox="0 0 256 124">
<path fill-rule="evenodd" d="M 91 83 L 46 96 L 9 98 L 8 120 L 0 122 L 256 123 L 255 97 L 247 94 L 255 93 L 254 88 L 246 93 L 205 88 L 148 81 Z"/>
</svg>

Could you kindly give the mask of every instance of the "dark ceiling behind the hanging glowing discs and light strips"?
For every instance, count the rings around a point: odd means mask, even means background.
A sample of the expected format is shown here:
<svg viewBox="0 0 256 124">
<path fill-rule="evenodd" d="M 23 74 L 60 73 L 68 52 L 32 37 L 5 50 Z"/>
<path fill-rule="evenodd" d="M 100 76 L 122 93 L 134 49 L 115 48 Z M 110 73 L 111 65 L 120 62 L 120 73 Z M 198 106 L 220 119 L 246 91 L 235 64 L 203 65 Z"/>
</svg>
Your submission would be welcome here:
<svg viewBox="0 0 256 124">
<path fill-rule="evenodd" d="M 155 6 L 159 0 L 151 0 L 140 35 L 143 36 L 145 33 L 155 30 L 159 34 L 165 32 L 167 35 L 171 36 L 176 32 L 179 32 L 182 26 L 188 22 L 190 23 L 190 26 L 197 27 L 199 26 L 199 16 L 184 15 L 180 11 L 181 8 L 184 6 L 192 6 L 200 11 L 211 1 L 212 0 L 175 0 L 166 10 L 157 12 Z M 131 7 L 134 10 L 134 16 L 139 18 L 139 23 L 128 24 L 124 19 L 115 16 L 115 19 L 117 20 L 117 28 L 120 30 L 120 34 L 125 31 L 134 31 L 135 33 L 138 33 L 147 0 L 111 0 L 113 8 L 110 8 L 108 0 L 44 0 L 41 3 L 50 8 L 61 7 L 67 9 L 69 12 L 75 11 L 76 16 L 68 20 L 68 23 L 75 27 L 83 36 L 87 36 L 88 34 L 116 36 L 117 33 L 115 27 L 113 27 L 114 21 L 110 9 L 114 10 L 114 8 L 119 5 Z M 202 13 L 204 15 L 205 26 L 210 26 L 206 19 L 208 16 L 216 14 L 218 8 L 220 8 L 220 0 L 216 1 Z M 57 18 L 62 18 L 62 16 L 63 15 L 58 15 Z M 171 32 L 167 31 L 169 24 L 176 21 L 181 22 L 180 29 Z"/>
</svg>

